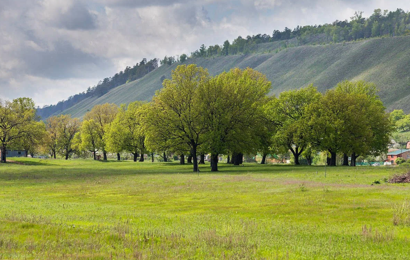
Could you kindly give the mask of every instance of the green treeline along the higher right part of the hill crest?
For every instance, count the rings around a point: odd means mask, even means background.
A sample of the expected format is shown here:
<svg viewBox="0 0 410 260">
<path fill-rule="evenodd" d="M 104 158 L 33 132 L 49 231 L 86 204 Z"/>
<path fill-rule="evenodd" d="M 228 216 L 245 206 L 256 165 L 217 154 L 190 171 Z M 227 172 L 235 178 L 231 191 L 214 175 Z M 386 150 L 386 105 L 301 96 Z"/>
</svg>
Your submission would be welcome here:
<svg viewBox="0 0 410 260">
<path fill-rule="evenodd" d="M 351 21 L 336 20 L 323 25 L 297 26 L 293 30 L 285 27 L 283 31 L 273 30 L 272 35 L 248 35 L 246 38 L 237 37 L 230 43 L 226 40 L 221 46 L 218 44 L 206 47 L 202 44 L 199 50 L 191 52 L 190 58 L 210 57 L 216 55 L 236 55 L 257 52 L 257 44 L 266 42 L 296 39 L 296 46 L 307 44 L 328 44 L 330 42 L 353 41 L 379 36 L 410 35 L 410 12 L 403 9 L 396 11 L 375 9 L 369 18 L 362 16 L 363 12 L 355 12 Z M 285 47 L 288 47 L 285 44 Z M 180 57 L 187 58 L 185 54 Z M 179 59 L 185 61 L 185 59 Z M 164 64 L 178 61 L 178 58 L 166 57 Z"/>
</svg>

